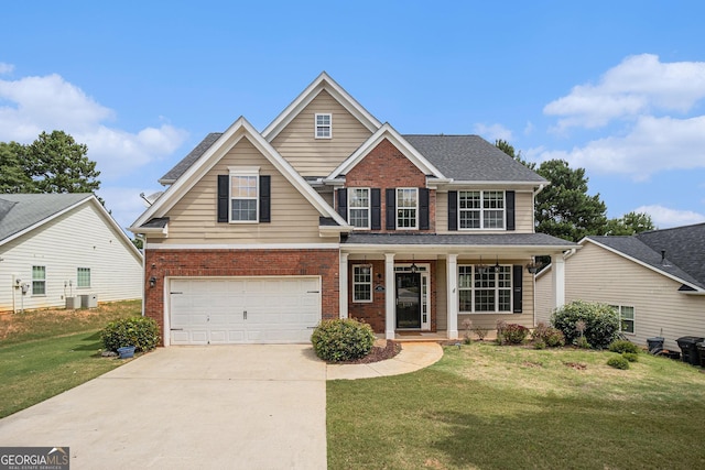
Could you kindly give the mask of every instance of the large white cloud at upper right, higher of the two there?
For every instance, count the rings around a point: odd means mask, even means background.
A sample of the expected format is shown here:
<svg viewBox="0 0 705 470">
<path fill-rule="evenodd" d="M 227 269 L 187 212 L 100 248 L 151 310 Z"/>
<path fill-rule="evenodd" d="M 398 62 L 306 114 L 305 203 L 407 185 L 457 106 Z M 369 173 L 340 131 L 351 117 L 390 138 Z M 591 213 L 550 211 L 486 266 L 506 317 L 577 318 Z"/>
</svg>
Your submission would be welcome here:
<svg viewBox="0 0 705 470">
<path fill-rule="evenodd" d="M 615 119 L 655 112 L 690 111 L 705 98 L 705 63 L 661 63 L 641 54 L 607 70 L 597 85 L 575 86 L 550 102 L 545 114 L 561 117 L 557 130 L 599 128 Z"/>
</svg>

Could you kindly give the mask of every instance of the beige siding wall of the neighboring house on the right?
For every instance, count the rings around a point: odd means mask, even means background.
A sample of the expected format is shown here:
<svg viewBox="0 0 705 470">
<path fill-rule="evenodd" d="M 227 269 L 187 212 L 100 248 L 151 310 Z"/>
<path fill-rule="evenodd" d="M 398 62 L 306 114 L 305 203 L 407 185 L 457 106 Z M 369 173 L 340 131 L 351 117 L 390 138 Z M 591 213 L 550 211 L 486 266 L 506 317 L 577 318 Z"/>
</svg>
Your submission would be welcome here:
<svg viewBox="0 0 705 470">
<path fill-rule="evenodd" d="M 551 282 L 546 273 L 539 281 L 541 289 Z M 705 337 L 705 297 L 679 293 L 681 283 L 593 243 L 566 260 L 565 284 L 566 302 L 633 306 L 634 335 L 628 338 L 640 346 L 662 336 L 665 347 L 677 351 L 677 338 Z"/>
</svg>

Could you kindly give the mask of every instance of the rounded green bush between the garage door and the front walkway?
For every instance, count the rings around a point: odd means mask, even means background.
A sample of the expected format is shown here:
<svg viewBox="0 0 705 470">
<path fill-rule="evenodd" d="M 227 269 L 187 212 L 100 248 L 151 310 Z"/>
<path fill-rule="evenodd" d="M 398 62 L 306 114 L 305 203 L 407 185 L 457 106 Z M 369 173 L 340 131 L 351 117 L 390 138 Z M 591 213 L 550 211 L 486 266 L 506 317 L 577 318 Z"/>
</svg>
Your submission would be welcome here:
<svg viewBox="0 0 705 470">
<path fill-rule="evenodd" d="M 352 318 L 323 320 L 311 335 L 311 342 L 324 361 L 349 361 L 370 353 L 375 332 L 368 324 Z"/>
</svg>

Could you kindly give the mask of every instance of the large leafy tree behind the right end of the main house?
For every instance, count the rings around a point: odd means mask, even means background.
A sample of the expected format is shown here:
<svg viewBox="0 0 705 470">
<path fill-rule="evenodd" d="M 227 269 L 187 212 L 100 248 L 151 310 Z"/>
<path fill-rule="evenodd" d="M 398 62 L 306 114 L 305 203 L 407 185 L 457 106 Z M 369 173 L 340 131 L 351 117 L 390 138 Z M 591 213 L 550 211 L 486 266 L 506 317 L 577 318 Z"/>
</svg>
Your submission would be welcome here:
<svg viewBox="0 0 705 470">
<path fill-rule="evenodd" d="M 585 168 L 572 170 L 564 160 L 549 160 L 536 173 L 551 182 L 536 195 L 538 232 L 575 242 L 588 234 L 604 233 L 607 207 L 599 194 L 587 195 Z"/>
</svg>

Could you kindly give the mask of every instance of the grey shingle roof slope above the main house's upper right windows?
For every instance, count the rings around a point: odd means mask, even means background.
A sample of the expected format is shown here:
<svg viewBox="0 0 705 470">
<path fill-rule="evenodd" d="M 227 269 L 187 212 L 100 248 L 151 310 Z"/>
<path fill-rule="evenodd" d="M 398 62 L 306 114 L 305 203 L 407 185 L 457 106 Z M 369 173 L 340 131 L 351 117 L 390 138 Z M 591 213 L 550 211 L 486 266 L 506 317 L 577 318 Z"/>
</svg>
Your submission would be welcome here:
<svg viewBox="0 0 705 470">
<path fill-rule="evenodd" d="M 403 138 L 446 177 L 462 182 L 547 183 L 479 135 L 423 135 Z"/>
</svg>

